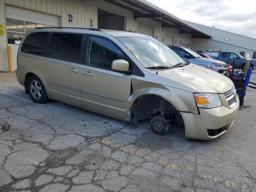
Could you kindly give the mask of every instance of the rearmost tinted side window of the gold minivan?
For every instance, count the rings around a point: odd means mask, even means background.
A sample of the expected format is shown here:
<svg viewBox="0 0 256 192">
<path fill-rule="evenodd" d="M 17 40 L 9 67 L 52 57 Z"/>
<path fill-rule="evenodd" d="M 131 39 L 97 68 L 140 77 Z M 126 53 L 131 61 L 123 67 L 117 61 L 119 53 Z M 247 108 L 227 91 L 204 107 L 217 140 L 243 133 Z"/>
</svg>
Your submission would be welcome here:
<svg viewBox="0 0 256 192">
<path fill-rule="evenodd" d="M 44 44 L 47 34 L 48 32 L 35 32 L 29 34 L 25 38 L 20 51 L 24 53 L 44 55 Z"/>
</svg>

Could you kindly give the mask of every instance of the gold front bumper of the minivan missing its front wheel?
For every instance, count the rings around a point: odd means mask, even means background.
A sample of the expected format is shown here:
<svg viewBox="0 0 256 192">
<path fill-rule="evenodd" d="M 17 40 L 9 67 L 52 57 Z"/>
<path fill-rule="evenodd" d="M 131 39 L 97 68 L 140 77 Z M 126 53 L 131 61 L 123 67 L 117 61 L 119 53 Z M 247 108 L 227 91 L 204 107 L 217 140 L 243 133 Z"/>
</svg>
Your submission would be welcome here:
<svg viewBox="0 0 256 192">
<path fill-rule="evenodd" d="M 181 113 L 185 124 L 186 138 L 212 140 L 224 134 L 234 123 L 239 110 L 239 101 L 234 108 L 220 106 L 213 109 L 200 108 L 200 114 Z M 212 132 L 217 133 L 214 136 Z"/>
</svg>

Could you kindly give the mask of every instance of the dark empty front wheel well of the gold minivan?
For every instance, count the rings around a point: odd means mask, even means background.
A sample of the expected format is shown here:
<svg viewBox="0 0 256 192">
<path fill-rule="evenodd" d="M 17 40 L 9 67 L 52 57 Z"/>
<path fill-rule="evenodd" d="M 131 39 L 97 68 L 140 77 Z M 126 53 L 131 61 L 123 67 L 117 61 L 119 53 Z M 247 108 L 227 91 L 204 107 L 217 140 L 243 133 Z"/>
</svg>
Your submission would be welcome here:
<svg viewBox="0 0 256 192">
<path fill-rule="evenodd" d="M 138 121 L 151 119 L 156 115 L 176 123 L 179 121 L 179 124 L 184 126 L 180 112 L 170 102 L 154 94 L 141 96 L 134 102 L 130 122 L 138 125 Z"/>
</svg>

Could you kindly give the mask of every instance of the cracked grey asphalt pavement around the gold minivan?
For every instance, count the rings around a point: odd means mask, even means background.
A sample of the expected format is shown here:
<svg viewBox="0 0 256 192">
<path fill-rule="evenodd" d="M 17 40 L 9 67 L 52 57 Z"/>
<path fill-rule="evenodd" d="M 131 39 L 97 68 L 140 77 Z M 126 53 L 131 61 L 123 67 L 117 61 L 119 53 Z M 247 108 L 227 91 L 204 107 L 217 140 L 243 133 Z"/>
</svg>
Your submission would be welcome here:
<svg viewBox="0 0 256 192">
<path fill-rule="evenodd" d="M 0 191 L 256 192 L 255 100 L 248 88 L 250 107 L 226 134 L 188 140 L 182 128 L 159 136 L 148 122 L 130 128 L 60 102 L 36 104 L 15 74 L 0 73 Z"/>
</svg>

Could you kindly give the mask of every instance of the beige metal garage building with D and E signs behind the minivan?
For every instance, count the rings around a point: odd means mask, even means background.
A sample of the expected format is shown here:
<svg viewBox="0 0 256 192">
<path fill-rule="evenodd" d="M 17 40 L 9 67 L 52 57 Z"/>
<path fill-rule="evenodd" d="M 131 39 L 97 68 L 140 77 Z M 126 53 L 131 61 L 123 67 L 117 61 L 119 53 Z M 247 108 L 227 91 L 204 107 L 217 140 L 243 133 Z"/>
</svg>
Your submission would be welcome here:
<svg viewBox="0 0 256 192">
<path fill-rule="evenodd" d="M 160 34 L 160 18 L 162 30 Z M 8 71 L 7 46 L 42 26 L 95 27 L 152 36 L 167 45 L 192 47 L 193 38 L 210 36 L 145 0 L 0 0 L 0 70 Z M 0 29 L 1 30 L 1 29 Z"/>
</svg>

